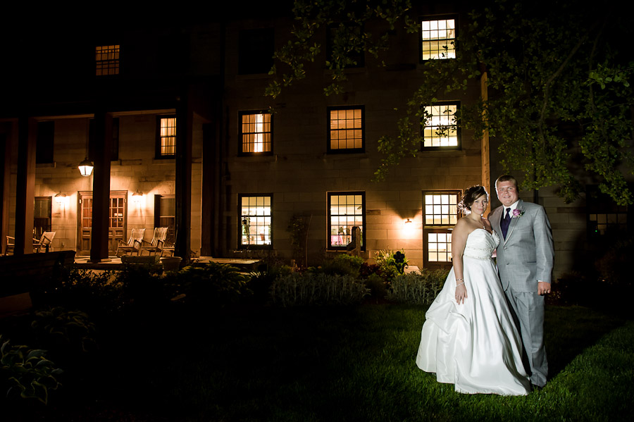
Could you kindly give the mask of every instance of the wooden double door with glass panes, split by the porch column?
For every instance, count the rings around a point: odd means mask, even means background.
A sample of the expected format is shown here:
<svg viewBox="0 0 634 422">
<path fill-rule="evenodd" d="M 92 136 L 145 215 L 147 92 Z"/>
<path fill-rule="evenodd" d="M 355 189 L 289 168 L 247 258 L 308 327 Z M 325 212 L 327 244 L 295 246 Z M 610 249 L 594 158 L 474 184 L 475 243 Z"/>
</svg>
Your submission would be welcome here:
<svg viewBox="0 0 634 422">
<path fill-rule="evenodd" d="M 79 192 L 79 209 L 77 235 L 77 254 L 90 255 L 92 237 L 92 192 Z M 114 255 L 117 250 L 118 240 L 125 238 L 128 225 L 128 192 L 111 191 L 110 206 L 108 210 L 108 254 Z"/>
</svg>

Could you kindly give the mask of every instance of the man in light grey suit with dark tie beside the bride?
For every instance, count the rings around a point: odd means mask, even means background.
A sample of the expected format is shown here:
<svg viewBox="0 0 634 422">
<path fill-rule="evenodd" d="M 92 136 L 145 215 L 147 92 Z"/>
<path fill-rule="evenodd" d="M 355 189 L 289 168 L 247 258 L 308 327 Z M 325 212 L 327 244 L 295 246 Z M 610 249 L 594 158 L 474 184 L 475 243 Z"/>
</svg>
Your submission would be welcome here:
<svg viewBox="0 0 634 422">
<path fill-rule="evenodd" d="M 519 199 L 513 176 L 500 176 L 495 181 L 495 190 L 502 206 L 491 213 L 489 221 L 500 239 L 499 278 L 518 317 L 530 364 L 530 382 L 544 387 L 548 373 L 544 295 L 550 292 L 554 257 L 550 223 L 543 206 Z"/>
</svg>

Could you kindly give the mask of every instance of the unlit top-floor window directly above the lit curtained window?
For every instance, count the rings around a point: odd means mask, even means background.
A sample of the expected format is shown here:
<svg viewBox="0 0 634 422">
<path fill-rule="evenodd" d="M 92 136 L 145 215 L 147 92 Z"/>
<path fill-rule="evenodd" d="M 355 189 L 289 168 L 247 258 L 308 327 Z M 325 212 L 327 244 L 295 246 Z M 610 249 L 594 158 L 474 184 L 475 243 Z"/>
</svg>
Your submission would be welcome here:
<svg viewBox="0 0 634 422">
<path fill-rule="evenodd" d="M 275 38 L 273 28 L 240 31 L 238 73 L 268 73 L 273 67 Z"/>
</svg>

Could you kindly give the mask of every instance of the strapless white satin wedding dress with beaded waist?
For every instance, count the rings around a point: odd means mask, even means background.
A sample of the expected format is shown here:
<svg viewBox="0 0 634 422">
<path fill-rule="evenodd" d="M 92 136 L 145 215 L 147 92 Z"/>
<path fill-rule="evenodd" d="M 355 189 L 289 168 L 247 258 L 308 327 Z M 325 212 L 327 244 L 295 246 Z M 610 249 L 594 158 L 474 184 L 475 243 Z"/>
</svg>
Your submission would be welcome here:
<svg viewBox="0 0 634 422">
<path fill-rule="evenodd" d="M 527 395 L 522 342 L 491 259 L 498 244 L 495 232 L 469 233 L 463 255 L 467 297 L 456 304 L 452 268 L 425 314 L 416 365 L 457 392 Z"/>
</svg>

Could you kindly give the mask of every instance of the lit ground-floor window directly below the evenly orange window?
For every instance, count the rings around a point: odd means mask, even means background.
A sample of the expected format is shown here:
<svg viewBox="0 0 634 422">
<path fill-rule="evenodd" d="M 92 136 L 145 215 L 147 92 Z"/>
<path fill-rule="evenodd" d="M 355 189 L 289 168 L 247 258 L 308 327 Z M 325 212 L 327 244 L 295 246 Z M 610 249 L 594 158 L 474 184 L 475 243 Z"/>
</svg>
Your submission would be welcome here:
<svg viewBox="0 0 634 422">
<path fill-rule="evenodd" d="M 361 249 L 365 250 L 365 194 L 335 192 L 328 194 L 328 249 L 346 249 L 352 242 L 352 228 L 361 230 Z"/>
</svg>

